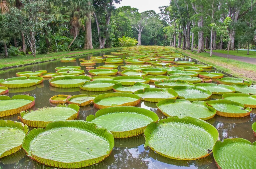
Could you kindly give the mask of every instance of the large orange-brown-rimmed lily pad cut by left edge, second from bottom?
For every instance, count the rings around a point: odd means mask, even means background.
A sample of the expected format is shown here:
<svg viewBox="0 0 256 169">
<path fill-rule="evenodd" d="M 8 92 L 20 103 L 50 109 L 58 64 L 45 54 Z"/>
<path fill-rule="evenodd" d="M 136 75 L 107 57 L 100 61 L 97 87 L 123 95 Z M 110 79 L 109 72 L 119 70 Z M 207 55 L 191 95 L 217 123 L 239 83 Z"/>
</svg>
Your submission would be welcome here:
<svg viewBox="0 0 256 169">
<path fill-rule="evenodd" d="M 0 96 L 0 117 L 18 114 L 35 105 L 35 98 L 28 95 Z"/>
</svg>

